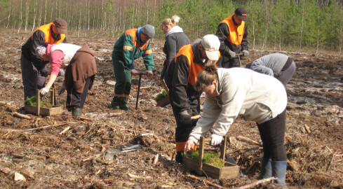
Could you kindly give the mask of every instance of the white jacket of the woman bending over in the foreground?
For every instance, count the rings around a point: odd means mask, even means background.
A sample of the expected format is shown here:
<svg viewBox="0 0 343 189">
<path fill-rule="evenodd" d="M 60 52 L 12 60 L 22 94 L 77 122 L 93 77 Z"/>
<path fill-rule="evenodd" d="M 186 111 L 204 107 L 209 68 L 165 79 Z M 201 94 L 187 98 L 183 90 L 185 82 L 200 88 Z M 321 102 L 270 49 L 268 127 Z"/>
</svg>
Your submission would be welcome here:
<svg viewBox="0 0 343 189">
<path fill-rule="evenodd" d="M 276 78 L 250 69 L 218 69 L 217 97 L 205 97 L 203 113 L 189 139 L 197 142 L 217 121 L 214 134 L 224 136 L 238 115 L 264 123 L 285 110 L 285 87 Z"/>
</svg>

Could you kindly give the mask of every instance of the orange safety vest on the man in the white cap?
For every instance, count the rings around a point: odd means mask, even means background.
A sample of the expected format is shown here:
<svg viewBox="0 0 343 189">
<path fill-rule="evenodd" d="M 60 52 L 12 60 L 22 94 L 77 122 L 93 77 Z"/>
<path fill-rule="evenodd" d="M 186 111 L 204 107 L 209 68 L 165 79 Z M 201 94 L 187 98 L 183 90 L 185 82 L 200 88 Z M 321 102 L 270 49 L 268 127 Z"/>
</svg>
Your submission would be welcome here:
<svg viewBox="0 0 343 189">
<path fill-rule="evenodd" d="M 220 57 L 219 51 L 218 51 L 218 54 Z M 191 83 L 191 85 L 194 86 L 194 84 L 196 83 L 196 78 L 198 76 L 198 73 L 200 73 L 200 71 L 203 71 L 204 68 L 201 64 L 196 64 L 196 62 L 193 61 L 194 53 L 193 53 L 193 50 L 191 49 L 191 44 L 184 45 L 182 48 L 180 48 L 179 52 L 177 52 L 177 55 L 175 56 L 175 62 L 177 60 L 177 57 L 180 57 L 180 55 L 184 55 L 188 59 L 189 73 L 188 73 L 187 82 Z M 217 64 L 217 61 L 215 61 L 215 64 Z"/>
</svg>

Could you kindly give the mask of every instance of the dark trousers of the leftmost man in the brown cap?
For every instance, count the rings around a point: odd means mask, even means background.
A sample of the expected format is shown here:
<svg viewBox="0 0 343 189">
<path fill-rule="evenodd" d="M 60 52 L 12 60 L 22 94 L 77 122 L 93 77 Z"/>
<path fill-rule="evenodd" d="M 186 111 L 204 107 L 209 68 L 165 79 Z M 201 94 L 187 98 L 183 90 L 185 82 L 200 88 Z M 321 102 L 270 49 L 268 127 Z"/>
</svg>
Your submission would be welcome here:
<svg viewBox="0 0 343 189">
<path fill-rule="evenodd" d="M 24 85 L 25 100 L 27 97 L 36 96 L 36 90 L 40 90 L 45 86 L 46 77 L 41 76 L 41 73 L 39 73 L 34 64 L 24 56 L 20 57 L 20 66 L 22 69 L 22 85 Z M 46 66 L 44 69 L 46 69 Z"/>
</svg>

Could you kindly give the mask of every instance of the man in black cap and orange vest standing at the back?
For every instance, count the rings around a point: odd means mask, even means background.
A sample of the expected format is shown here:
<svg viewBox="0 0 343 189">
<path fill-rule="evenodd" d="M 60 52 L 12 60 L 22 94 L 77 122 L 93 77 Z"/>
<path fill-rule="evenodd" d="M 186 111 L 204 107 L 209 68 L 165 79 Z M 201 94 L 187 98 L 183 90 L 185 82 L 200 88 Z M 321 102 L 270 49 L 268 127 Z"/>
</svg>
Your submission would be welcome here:
<svg viewBox="0 0 343 189">
<path fill-rule="evenodd" d="M 248 21 L 245 8 L 236 8 L 234 15 L 230 15 L 220 22 L 215 35 L 220 41 L 220 53 L 222 61 L 217 66 L 222 68 L 239 67 L 238 54 L 249 55 L 248 48 Z"/>
</svg>

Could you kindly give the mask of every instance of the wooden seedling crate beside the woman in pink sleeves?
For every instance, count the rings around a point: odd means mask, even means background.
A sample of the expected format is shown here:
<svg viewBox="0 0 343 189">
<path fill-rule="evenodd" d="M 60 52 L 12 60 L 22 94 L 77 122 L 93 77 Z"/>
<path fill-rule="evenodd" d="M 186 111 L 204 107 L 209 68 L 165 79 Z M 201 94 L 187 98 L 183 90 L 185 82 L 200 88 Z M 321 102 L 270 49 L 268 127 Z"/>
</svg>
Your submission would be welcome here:
<svg viewBox="0 0 343 189">
<path fill-rule="evenodd" d="M 36 90 L 36 97 L 39 97 L 39 90 Z M 45 107 L 40 107 L 39 106 L 39 98 L 37 99 L 37 106 L 30 106 L 30 105 L 25 105 L 24 109 L 25 111 L 29 113 L 35 113 L 37 116 L 52 116 L 52 115 L 58 115 L 62 113 L 62 106 L 55 106 L 55 89 L 53 87 L 53 90 L 51 91 L 51 104 L 53 104 L 52 108 L 45 108 Z"/>
</svg>

